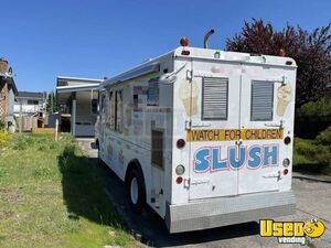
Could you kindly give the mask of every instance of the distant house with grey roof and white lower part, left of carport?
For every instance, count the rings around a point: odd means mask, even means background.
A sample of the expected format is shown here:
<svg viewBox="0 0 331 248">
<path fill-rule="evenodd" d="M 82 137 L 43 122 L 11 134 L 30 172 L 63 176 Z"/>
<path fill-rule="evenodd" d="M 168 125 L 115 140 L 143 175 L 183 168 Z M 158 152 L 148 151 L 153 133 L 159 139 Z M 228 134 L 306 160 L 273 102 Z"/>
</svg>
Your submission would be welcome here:
<svg viewBox="0 0 331 248">
<path fill-rule="evenodd" d="M 14 104 L 14 115 L 19 117 L 42 112 L 46 105 L 46 93 L 19 91 Z"/>
</svg>

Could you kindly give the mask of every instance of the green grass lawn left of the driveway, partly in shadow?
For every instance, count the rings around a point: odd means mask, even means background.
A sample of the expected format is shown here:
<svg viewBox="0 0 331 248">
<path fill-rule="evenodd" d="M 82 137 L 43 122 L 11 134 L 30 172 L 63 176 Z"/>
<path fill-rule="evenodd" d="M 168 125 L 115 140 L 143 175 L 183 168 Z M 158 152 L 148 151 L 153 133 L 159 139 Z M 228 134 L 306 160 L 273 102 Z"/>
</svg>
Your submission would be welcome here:
<svg viewBox="0 0 331 248">
<path fill-rule="evenodd" d="M 0 145 L 0 247 L 136 247 L 70 136 L 15 134 Z"/>
</svg>

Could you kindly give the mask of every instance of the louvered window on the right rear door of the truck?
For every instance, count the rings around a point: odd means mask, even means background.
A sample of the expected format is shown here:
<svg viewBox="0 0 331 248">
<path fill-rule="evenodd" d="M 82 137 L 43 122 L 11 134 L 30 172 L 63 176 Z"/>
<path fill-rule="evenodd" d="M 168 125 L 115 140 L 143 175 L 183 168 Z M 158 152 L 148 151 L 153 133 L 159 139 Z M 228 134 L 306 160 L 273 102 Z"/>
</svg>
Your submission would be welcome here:
<svg viewBox="0 0 331 248">
<path fill-rule="evenodd" d="M 274 83 L 253 80 L 250 120 L 273 120 Z"/>
</svg>

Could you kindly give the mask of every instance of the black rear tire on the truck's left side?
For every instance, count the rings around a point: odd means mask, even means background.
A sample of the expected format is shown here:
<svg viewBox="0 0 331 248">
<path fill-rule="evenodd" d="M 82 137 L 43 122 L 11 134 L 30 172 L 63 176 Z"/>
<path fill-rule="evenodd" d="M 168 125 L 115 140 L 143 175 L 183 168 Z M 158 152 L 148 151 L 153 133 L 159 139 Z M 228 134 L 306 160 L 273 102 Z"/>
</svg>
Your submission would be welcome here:
<svg viewBox="0 0 331 248">
<path fill-rule="evenodd" d="M 135 187 L 132 184 L 135 184 L 134 183 L 135 180 L 137 182 L 137 193 L 138 193 L 137 197 L 135 196 L 135 194 L 132 194 L 132 187 Z M 145 190 L 143 176 L 139 170 L 132 169 L 129 172 L 126 182 L 126 190 L 127 190 L 127 197 L 128 197 L 129 205 L 137 214 L 140 214 L 146 204 L 146 190 Z"/>
</svg>

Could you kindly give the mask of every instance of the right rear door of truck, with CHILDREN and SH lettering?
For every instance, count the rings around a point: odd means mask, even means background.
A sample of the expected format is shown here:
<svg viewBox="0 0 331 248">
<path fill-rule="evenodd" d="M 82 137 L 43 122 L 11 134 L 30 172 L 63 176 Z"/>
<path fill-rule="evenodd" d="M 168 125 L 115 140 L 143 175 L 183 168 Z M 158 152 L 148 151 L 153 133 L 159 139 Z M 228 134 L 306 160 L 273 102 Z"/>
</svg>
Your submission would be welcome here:
<svg viewBox="0 0 331 248">
<path fill-rule="evenodd" d="M 238 144 L 245 150 L 246 164 L 238 170 L 238 194 L 279 188 L 285 119 L 277 116 L 277 89 L 282 75 L 282 68 L 243 65 Z"/>
</svg>

